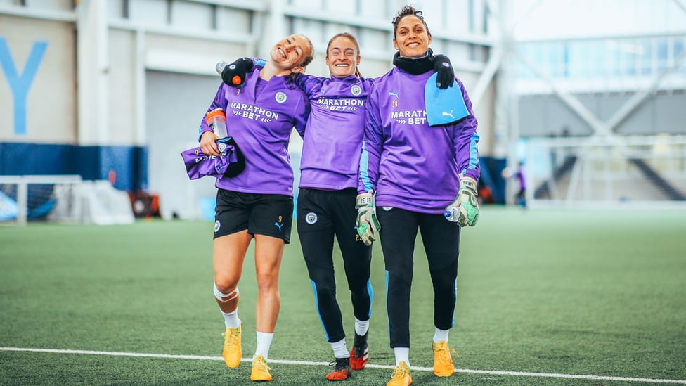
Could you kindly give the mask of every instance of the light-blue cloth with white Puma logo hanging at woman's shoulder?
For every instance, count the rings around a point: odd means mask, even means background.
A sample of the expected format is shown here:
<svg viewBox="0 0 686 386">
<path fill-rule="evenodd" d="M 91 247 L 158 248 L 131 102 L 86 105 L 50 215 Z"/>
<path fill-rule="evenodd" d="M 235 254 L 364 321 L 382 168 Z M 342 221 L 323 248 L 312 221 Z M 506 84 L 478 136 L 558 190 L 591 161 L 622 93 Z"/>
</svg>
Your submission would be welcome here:
<svg viewBox="0 0 686 386">
<path fill-rule="evenodd" d="M 454 82 L 453 86 L 441 90 L 436 86 L 437 75 L 434 73 L 429 77 L 424 86 L 424 101 L 427 105 L 429 126 L 453 123 L 468 117 L 470 112 L 467 111 L 467 105 L 465 105 L 465 99 L 462 98 L 458 82 Z"/>
</svg>

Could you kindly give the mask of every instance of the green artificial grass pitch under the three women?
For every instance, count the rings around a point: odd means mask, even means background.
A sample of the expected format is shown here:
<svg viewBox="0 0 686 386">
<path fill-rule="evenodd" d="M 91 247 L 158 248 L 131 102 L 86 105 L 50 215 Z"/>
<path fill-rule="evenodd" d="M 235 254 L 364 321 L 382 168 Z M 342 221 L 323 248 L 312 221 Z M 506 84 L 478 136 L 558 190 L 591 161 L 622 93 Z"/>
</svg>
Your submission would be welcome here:
<svg viewBox="0 0 686 386">
<path fill-rule="evenodd" d="M 244 358 L 255 345 L 252 252 L 239 287 Z M 351 347 L 339 252 L 335 260 Z M 220 360 L 212 278 L 209 222 L 0 226 L 0 385 L 250 385 L 250 362 Z M 392 372 L 380 245 L 372 284 L 375 366 L 342 385 L 384 385 Z M 325 385 L 332 352 L 295 226 L 280 290 L 270 384 Z M 418 238 L 413 385 L 686 384 L 686 211 L 483 207 L 462 232 L 451 378 L 427 370 L 432 304 Z"/>
</svg>

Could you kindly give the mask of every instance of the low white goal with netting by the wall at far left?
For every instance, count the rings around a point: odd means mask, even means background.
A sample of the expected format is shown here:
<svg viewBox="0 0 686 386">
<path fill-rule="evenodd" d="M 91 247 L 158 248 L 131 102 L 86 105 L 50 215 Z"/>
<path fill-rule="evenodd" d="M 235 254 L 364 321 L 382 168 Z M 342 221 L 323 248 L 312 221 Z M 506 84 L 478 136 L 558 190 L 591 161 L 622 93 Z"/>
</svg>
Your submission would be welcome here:
<svg viewBox="0 0 686 386">
<path fill-rule="evenodd" d="M 129 195 L 110 181 L 80 176 L 0 176 L 0 224 L 134 222 Z"/>
</svg>

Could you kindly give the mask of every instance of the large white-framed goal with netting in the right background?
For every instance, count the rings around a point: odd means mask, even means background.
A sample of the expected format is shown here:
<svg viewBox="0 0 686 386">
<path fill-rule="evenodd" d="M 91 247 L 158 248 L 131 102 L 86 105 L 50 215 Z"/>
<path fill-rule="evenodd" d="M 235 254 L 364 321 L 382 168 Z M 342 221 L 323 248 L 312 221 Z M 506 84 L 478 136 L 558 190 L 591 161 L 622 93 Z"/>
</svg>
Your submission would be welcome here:
<svg viewBox="0 0 686 386">
<path fill-rule="evenodd" d="M 531 207 L 686 208 L 686 137 L 529 139 Z"/>
</svg>

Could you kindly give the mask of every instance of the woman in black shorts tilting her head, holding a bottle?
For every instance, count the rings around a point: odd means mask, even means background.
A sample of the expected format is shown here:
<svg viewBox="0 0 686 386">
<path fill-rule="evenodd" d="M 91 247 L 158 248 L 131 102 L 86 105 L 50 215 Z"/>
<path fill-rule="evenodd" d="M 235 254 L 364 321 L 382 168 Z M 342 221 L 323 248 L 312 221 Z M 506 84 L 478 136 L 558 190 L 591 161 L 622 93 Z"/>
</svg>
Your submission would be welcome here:
<svg viewBox="0 0 686 386">
<path fill-rule="evenodd" d="M 313 53 L 304 35 L 286 37 L 273 46 L 264 68 L 247 74 L 241 89 L 221 84 L 208 109 L 224 109 L 228 134 L 245 155 L 242 173 L 216 180 L 214 297 L 226 326 L 224 361 L 235 368 L 242 356 L 238 282 L 254 238 L 258 291 L 257 347 L 250 374 L 254 381 L 272 379 L 268 352 L 281 303 L 281 258 L 284 245 L 290 243 L 293 218 L 293 171 L 287 150 L 293 127 L 304 134 L 309 115 L 309 101 L 289 75 L 303 72 Z M 218 136 L 205 120 L 200 132 L 202 152 L 219 156 Z"/>
</svg>

